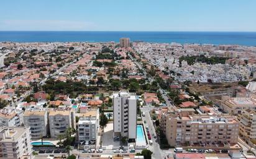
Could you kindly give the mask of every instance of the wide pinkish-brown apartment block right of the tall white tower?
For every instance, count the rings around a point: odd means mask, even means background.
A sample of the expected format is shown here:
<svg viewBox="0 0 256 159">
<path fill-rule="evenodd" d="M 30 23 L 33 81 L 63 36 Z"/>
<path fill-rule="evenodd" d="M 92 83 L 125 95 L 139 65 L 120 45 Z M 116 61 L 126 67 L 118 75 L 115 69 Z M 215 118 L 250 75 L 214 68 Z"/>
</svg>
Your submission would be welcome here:
<svg viewBox="0 0 256 159">
<path fill-rule="evenodd" d="M 211 114 L 181 114 L 173 111 L 162 116 L 162 127 L 168 143 L 176 144 L 236 144 L 239 121 L 234 116 Z"/>
</svg>

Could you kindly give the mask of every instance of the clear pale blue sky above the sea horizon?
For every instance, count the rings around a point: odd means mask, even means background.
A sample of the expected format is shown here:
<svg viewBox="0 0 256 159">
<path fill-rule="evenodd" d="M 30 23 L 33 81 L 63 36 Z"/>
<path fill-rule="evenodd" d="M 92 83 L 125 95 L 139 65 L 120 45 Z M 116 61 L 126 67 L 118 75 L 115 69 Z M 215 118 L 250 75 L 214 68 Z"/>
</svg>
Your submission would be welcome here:
<svg viewBox="0 0 256 159">
<path fill-rule="evenodd" d="M 5 0 L 0 30 L 256 31 L 254 0 Z"/>
</svg>

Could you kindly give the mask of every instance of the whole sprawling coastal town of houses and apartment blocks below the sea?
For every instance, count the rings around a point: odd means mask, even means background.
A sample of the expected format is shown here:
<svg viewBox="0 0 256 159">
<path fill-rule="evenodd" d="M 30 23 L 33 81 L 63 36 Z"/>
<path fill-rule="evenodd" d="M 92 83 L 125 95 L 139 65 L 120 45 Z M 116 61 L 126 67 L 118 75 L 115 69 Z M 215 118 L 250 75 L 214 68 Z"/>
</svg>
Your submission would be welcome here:
<svg viewBox="0 0 256 159">
<path fill-rule="evenodd" d="M 0 42 L 0 158 L 256 158 L 255 53 Z"/>
</svg>

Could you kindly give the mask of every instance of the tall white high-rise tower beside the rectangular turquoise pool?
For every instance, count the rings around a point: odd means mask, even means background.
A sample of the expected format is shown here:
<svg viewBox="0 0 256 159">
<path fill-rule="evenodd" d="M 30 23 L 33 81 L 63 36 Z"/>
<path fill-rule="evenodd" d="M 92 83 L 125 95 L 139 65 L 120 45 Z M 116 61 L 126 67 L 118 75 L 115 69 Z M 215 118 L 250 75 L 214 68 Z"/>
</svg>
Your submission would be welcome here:
<svg viewBox="0 0 256 159">
<path fill-rule="evenodd" d="M 137 100 L 134 93 L 121 91 L 113 93 L 114 100 L 114 136 L 121 135 L 136 139 Z"/>
</svg>

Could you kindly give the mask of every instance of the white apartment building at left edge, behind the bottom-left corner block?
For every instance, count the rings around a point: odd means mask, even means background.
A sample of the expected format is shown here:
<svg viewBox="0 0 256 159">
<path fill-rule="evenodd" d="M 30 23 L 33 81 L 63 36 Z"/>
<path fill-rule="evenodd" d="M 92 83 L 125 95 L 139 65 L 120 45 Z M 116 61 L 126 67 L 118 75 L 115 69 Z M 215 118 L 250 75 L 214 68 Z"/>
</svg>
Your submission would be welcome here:
<svg viewBox="0 0 256 159">
<path fill-rule="evenodd" d="M 9 106 L 0 110 L 0 126 L 21 126 L 23 111 Z"/>
</svg>

